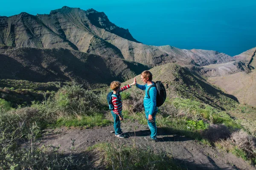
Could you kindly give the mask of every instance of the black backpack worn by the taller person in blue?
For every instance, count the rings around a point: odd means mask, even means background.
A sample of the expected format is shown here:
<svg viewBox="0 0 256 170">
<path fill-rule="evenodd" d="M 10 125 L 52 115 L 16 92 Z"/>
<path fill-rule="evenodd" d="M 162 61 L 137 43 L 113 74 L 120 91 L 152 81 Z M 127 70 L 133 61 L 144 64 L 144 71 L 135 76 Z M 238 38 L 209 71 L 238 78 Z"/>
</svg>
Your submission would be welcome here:
<svg viewBox="0 0 256 170">
<path fill-rule="evenodd" d="M 148 88 L 148 97 L 150 98 L 149 96 L 149 90 L 151 87 L 156 87 L 157 88 L 157 107 L 163 105 L 163 103 L 165 102 L 166 100 L 166 90 L 163 86 L 163 83 L 161 81 L 157 81 L 155 82 L 155 85 L 151 85 L 149 88 Z"/>
</svg>

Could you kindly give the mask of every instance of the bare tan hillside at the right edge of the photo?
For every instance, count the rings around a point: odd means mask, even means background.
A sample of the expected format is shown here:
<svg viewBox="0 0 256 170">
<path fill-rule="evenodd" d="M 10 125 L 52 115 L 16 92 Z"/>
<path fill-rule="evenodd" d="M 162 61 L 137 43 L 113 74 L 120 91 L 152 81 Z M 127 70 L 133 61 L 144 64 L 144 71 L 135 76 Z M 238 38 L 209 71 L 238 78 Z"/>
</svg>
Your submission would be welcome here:
<svg viewBox="0 0 256 170">
<path fill-rule="evenodd" d="M 238 65 L 236 64 L 237 67 L 232 66 L 233 69 L 228 67 L 230 63 L 223 63 L 216 66 L 218 71 L 215 71 L 215 68 L 214 71 L 210 71 L 210 74 L 207 72 L 203 72 L 203 74 L 209 75 L 208 81 L 210 83 L 217 85 L 228 94 L 236 96 L 239 102 L 256 106 L 255 52 L 256 47 L 234 56 L 237 61 L 233 63 L 238 63 Z M 223 65 L 225 67 L 222 67 Z M 202 70 L 205 71 L 205 68 L 212 68 L 212 65 L 203 68 Z"/>
</svg>

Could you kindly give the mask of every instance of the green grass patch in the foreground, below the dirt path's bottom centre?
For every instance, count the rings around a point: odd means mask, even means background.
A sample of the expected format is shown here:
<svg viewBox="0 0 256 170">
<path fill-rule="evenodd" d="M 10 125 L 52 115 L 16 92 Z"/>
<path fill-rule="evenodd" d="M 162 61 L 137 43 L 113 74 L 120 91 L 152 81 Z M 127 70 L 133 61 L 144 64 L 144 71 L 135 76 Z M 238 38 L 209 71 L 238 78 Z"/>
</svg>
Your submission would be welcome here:
<svg viewBox="0 0 256 170">
<path fill-rule="evenodd" d="M 106 169 L 125 170 L 181 170 L 172 158 L 163 153 L 154 153 L 149 148 L 136 145 L 101 143 L 89 148 L 90 151 L 102 152 Z"/>
</svg>

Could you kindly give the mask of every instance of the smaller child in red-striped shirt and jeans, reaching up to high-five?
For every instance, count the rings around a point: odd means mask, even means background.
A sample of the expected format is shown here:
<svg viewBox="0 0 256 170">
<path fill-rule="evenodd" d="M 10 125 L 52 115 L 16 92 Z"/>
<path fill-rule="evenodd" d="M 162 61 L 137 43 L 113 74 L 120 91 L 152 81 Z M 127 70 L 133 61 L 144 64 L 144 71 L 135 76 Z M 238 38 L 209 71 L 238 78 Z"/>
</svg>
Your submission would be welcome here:
<svg viewBox="0 0 256 170">
<path fill-rule="evenodd" d="M 113 90 L 112 94 L 112 103 L 114 106 L 113 111 L 111 111 L 112 116 L 114 118 L 114 130 L 115 130 L 115 136 L 119 138 L 125 138 L 126 136 L 122 132 L 122 129 L 120 128 L 121 122 L 120 120 L 124 120 L 122 117 L 122 98 L 121 95 L 119 94 L 122 91 L 127 90 L 128 88 L 131 88 L 132 85 L 135 85 L 135 78 L 134 82 L 131 85 L 126 85 L 122 88 L 121 87 L 121 82 L 119 81 L 113 81 L 110 84 L 110 88 Z"/>
</svg>

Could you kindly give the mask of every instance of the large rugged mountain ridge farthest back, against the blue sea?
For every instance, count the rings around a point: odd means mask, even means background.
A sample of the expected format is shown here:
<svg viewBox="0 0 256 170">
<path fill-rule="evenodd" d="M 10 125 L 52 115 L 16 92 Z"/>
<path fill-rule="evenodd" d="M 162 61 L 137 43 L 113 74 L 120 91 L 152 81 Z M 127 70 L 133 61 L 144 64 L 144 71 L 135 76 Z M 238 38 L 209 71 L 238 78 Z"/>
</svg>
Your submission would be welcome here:
<svg viewBox="0 0 256 170">
<path fill-rule="evenodd" d="M 234 60 L 218 51 L 145 45 L 135 40 L 128 29 L 111 23 L 103 12 L 67 6 L 50 14 L 34 16 L 23 12 L 0 17 L 0 44 L 17 48 L 67 48 L 148 65 L 177 62 L 204 66 Z"/>
</svg>

